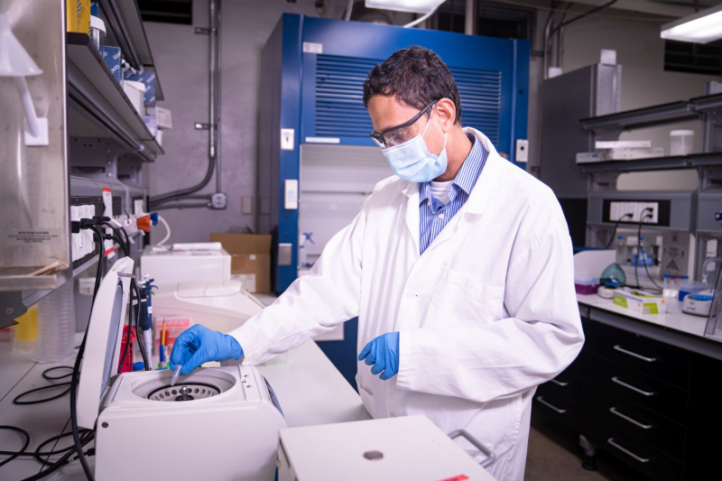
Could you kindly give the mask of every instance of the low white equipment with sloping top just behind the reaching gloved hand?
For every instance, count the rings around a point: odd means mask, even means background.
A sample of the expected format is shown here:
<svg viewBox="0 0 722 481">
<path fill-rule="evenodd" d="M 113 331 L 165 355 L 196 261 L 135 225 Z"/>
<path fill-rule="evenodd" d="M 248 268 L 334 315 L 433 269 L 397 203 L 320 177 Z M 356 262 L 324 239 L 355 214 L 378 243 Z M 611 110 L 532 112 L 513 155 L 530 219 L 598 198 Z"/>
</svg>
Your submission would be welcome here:
<svg viewBox="0 0 722 481">
<path fill-rule="evenodd" d="M 228 332 L 243 325 L 264 305 L 240 281 L 193 281 L 159 284 L 153 295 L 153 319 L 186 317 L 189 326 Z"/>
</svg>

